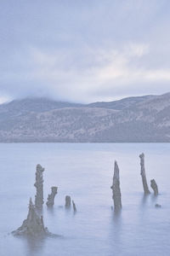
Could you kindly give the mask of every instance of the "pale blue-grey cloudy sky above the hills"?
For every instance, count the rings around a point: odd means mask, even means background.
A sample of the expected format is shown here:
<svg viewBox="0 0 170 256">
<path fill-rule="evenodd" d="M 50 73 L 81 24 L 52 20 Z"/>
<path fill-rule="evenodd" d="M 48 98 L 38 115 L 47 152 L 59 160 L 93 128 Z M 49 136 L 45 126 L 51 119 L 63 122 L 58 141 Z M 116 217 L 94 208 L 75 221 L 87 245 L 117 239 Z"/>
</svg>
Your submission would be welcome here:
<svg viewBox="0 0 170 256">
<path fill-rule="evenodd" d="M 169 0 L 1 0 L 0 102 L 170 91 Z"/>
</svg>

